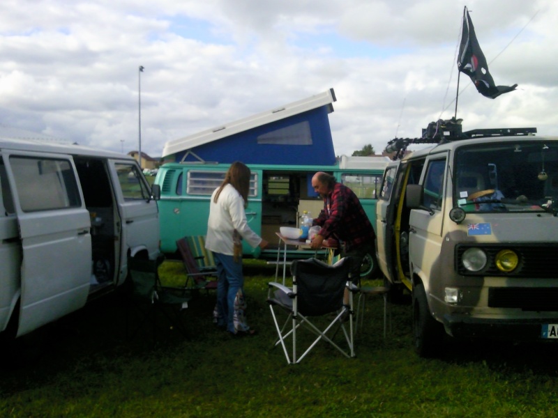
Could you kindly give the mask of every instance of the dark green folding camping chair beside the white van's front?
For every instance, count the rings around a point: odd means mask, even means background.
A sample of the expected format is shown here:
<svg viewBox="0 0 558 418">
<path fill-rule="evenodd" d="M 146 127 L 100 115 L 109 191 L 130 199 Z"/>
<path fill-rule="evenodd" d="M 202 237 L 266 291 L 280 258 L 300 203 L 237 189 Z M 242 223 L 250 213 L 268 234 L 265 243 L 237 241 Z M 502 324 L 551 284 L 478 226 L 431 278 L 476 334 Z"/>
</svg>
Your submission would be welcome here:
<svg viewBox="0 0 558 418">
<path fill-rule="evenodd" d="M 156 341 L 156 330 L 160 325 L 159 318 L 163 316 L 170 324 L 170 329 L 176 328 L 184 336 L 188 336 L 186 325 L 181 316 L 183 309 L 188 307 L 191 299 L 190 291 L 183 287 L 163 286 L 160 282 L 158 267 L 164 257 L 156 260 L 144 258 L 128 258 L 128 273 L 130 274 L 131 289 L 130 302 L 140 311 L 142 320 L 149 320 L 153 325 L 153 343 Z M 137 325 L 133 332 L 129 332 L 130 309 L 126 316 L 126 336 L 133 337 L 142 329 L 144 322 Z"/>
</svg>

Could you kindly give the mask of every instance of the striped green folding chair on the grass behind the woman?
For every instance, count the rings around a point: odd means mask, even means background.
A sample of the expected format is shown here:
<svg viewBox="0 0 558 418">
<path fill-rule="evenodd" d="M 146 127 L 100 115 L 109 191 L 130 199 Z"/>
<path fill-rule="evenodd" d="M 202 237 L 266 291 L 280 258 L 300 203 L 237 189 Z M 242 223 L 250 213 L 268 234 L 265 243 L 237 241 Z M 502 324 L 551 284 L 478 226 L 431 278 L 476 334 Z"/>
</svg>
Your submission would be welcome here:
<svg viewBox="0 0 558 418">
<path fill-rule="evenodd" d="M 205 256 L 196 257 L 194 255 L 188 237 L 176 240 L 176 248 L 181 256 L 184 270 L 186 270 L 186 286 L 192 289 L 205 289 L 206 291 L 216 290 L 218 276 L 215 264 L 200 266 L 202 258 Z M 206 253 L 211 253 L 211 251 L 206 251 Z M 209 256 L 207 257 L 209 260 Z M 211 254 L 211 257 L 213 257 L 213 254 Z M 190 282 L 192 283 L 190 284 Z"/>
</svg>

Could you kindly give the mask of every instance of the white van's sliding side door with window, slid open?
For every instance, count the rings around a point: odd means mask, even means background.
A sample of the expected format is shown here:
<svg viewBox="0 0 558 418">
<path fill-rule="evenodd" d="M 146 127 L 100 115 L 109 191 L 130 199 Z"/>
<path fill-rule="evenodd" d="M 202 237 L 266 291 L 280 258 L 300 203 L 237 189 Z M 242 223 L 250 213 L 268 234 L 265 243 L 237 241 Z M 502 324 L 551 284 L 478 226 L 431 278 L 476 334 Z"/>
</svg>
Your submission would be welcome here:
<svg viewBox="0 0 558 418">
<path fill-rule="evenodd" d="M 4 153 L 22 243 L 17 336 L 83 307 L 91 279 L 91 234 L 69 155 Z"/>
</svg>

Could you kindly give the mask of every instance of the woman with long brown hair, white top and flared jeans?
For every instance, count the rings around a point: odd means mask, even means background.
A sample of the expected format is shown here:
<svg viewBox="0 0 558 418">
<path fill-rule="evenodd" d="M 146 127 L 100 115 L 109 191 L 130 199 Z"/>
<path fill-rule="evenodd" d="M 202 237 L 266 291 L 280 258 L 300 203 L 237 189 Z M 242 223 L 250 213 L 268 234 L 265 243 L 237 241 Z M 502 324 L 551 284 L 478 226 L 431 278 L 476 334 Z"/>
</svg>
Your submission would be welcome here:
<svg viewBox="0 0 558 418">
<path fill-rule="evenodd" d="M 268 245 L 248 226 L 244 208 L 248 203 L 249 189 L 250 169 L 242 162 L 233 162 L 225 180 L 211 195 L 207 222 L 205 247 L 213 251 L 219 276 L 217 325 L 233 335 L 254 334 L 241 318 L 237 318 L 236 327 L 234 321 L 236 294 L 240 291 L 241 300 L 244 285 L 241 239 L 254 248 L 263 249 Z"/>
</svg>

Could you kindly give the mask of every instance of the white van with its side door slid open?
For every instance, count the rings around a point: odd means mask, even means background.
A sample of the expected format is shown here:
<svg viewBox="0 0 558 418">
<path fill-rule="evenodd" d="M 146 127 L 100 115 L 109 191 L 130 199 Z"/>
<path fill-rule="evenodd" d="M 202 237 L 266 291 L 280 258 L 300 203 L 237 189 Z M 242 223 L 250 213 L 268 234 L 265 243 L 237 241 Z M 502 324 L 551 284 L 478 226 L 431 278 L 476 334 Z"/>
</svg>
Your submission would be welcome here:
<svg viewBox="0 0 558 418">
<path fill-rule="evenodd" d="M 11 137 L 11 138 L 10 138 Z M 27 334 L 112 291 L 158 254 L 158 210 L 133 158 L 0 130 L 0 332 Z"/>
</svg>

